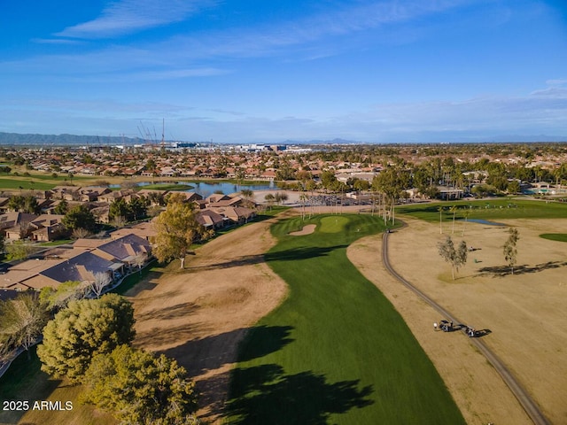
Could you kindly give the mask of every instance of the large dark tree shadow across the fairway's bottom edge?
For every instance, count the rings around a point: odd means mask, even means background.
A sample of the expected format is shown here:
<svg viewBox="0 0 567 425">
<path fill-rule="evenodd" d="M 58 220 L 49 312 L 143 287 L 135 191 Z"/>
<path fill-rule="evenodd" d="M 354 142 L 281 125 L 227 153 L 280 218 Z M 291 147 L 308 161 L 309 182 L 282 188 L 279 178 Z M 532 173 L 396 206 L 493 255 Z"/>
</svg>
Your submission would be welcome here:
<svg viewBox="0 0 567 425">
<path fill-rule="evenodd" d="M 227 410 L 238 425 L 324 425 L 333 413 L 373 404 L 372 391 L 370 385 L 359 390 L 359 380 L 328 383 L 310 371 L 284 375 L 275 364 L 238 368 Z"/>
</svg>

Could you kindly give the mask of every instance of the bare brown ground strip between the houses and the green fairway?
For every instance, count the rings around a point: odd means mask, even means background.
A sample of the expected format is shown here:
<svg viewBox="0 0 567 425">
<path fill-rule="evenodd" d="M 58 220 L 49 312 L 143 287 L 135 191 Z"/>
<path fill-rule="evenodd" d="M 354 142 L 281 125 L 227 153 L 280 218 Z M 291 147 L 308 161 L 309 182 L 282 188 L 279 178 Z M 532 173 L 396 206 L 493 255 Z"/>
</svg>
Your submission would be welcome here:
<svg viewBox="0 0 567 425">
<path fill-rule="evenodd" d="M 275 243 L 270 224 L 218 237 L 187 260 L 186 270 L 168 267 L 127 294 L 136 314 L 135 344 L 187 368 L 201 394 L 198 414 L 207 423 L 221 422 L 238 343 L 287 291 L 264 263 L 264 252 Z"/>
</svg>

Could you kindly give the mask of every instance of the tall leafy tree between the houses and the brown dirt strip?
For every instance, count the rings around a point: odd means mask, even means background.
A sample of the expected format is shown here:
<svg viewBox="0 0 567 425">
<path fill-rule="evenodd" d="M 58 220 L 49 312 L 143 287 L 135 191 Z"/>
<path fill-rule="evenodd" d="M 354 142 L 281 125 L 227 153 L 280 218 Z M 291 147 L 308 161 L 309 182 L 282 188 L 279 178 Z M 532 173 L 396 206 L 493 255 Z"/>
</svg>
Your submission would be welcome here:
<svg viewBox="0 0 567 425">
<path fill-rule="evenodd" d="M 154 228 L 156 258 L 161 262 L 179 259 L 182 269 L 191 244 L 211 236 L 198 222 L 192 206 L 174 195 L 169 198 L 166 210 L 159 214 Z"/>
</svg>

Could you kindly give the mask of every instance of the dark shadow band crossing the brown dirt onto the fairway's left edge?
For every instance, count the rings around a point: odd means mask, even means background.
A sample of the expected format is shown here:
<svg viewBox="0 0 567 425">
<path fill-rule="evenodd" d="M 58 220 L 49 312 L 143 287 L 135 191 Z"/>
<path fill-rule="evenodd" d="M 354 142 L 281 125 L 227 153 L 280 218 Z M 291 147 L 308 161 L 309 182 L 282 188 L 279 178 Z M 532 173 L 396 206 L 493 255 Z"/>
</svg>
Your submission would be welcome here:
<svg viewBox="0 0 567 425">
<path fill-rule="evenodd" d="M 187 368 L 190 375 L 197 376 L 236 361 L 233 358 L 234 351 L 230 349 L 246 334 L 238 356 L 240 361 L 258 359 L 281 350 L 293 341 L 290 337 L 292 329 L 291 326 L 238 328 L 219 335 L 193 339 L 170 348 L 163 354 L 177 359 L 181 366 Z M 253 344 L 247 344 L 247 341 L 252 341 L 252 336 Z"/>
</svg>

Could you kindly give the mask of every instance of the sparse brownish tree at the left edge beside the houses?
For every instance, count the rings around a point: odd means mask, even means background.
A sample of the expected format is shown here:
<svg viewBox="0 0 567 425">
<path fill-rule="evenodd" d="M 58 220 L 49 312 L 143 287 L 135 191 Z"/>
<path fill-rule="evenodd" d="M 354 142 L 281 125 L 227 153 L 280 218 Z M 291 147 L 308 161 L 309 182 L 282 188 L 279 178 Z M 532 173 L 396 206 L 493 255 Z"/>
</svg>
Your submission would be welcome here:
<svg viewBox="0 0 567 425">
<path fill-rule="evenodd" d="M 47 323 L 45 305 L 35 292 L 24 292 L 17 298 L 0 303 L 0 335 L 12 348 L 23 347 L 29 359 L 31 347 L 42 335 Z"/>
</svg>

